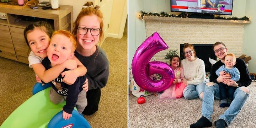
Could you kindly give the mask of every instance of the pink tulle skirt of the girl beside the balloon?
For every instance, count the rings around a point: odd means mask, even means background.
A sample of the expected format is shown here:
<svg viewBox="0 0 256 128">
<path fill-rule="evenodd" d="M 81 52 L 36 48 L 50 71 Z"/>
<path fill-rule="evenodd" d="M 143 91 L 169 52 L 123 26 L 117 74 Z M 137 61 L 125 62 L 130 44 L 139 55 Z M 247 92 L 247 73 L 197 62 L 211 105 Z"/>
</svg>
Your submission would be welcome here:
<svg viewBox="0 0 256 128">
<path fill-rule="evenodd" d="M 177 84 L 172 84 L 169 88 L 164 90 L 160 94 L 160 98 L 162 99 L 176 99 L 181 98 L 183 96 L 183 90 L 185 89 L 186 85 L 183 82 L 179 82 Z"/>
</svg>

